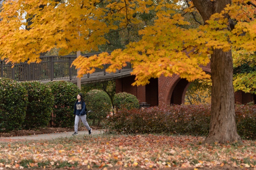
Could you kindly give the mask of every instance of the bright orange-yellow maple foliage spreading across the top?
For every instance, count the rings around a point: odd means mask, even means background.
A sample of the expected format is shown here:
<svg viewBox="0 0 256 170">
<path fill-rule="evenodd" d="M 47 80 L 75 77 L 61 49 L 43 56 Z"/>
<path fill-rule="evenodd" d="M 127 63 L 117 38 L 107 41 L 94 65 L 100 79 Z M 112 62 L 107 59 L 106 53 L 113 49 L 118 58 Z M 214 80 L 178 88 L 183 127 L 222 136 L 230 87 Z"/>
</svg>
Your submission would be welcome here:
<svg viewBox="0 0 256 170">
<path fill-rule="evenodd" d="M 190 29 L 182 27 L 190 23 L 176 12 L 184 8 L 178 0 L 5 2 L 0 21 L 0 44 L 4 48 L 0 55 L 1 59 L 7 58 L 6 62 L 12 63 L 28 59 L 29 62 L 40 62 L 40 53 L 54 47 L 61 48 L 60 55 L 97 50 L 98 45 L 106 43 L 106 33 L 140 23 L 134 14 L 155 11 L 154 25 L 139 31 L 142 39 L 129 43 L 125 50 L 117 49 L 111 55 L 78 57 L 73 65 L 80 68 L 80 76 L 92 73 L 94 67 L 102 67 L 102 64 L 111 64 L 106 71 L 115 72 L 126 62 L 131 62 L 131 74 L 136 75 L 133 85 L 145 85 L 151 77 L 173 74 L 193 81 L 210 78 L 198 66 L 210 61 L 209 54 L 213 51 L 209 49 L 228 51 L 232 44 L 248 51 L 256 49 L 256 8 L 245 0 L 233 0 L 220 14 L 213 14 L 207 24 Z M 255 0 L 250 2 L 256 4 Z M 195 10 L 190 4 L 192 7 L 184 8 L 184 11 Z M 21 29 L 21 25 L 27 24 L 22 22 L 21 14 L 26 14 L 26 19 L 31 18 L 32 24 L 27 25 L 29 29 Z M 230 22 L 225 15 L 234 19 L 233 30 L 222 29 Z"/>
</svg>

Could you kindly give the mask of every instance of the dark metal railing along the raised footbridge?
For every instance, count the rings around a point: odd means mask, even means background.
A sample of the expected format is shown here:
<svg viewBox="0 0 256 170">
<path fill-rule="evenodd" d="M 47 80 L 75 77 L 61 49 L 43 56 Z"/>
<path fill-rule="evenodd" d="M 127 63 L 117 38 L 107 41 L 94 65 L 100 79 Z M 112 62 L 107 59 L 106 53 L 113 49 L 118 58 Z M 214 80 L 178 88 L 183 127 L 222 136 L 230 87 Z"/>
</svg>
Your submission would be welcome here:
<svg viewBox="0 0 256 170">
<path fill-rule="evenodd" d="M 108 52 L 109 54 L 111 52 Z M 90 57 L 99 53 L 81 54 L 84 57 Z M 77 77 L 77 70 L 75 66 L 71 66 L 71 63 L 77 58 L 77 55 L 67 56 L 41 56 L 40 63 L 21 62 L 15 64 L 13 68 L 11 63 L 5 63 L 0 60 L 0 73 L 1 77 L 10 78 L 16 81 L 53 81 L 53 80 L 72 80 Z M 103 69 L 95 68 L 95 72 L 92 74 L 84 74 L 82 78 L 89 78 L 92 76 L 104 76 L 107 74 L 106 69 L 109 65 L 103 65 Z M 121 70 L 117 70 L 118 73 L 131 71 L 131 64 L 127 63 L 126 67 Z"/>
</svg>

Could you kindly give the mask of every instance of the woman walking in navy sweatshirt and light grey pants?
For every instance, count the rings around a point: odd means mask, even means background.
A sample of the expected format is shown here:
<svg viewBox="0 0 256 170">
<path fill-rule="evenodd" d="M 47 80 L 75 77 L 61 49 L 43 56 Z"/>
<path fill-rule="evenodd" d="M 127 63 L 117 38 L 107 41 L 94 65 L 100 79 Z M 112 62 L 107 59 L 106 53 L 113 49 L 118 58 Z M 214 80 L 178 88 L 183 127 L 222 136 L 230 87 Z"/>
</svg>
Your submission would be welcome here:
<svg viewBox="0 0 256 170">
<path fill-rule="evenodd" d="M 74 106 L 74 115 L 75 115 L 75 132 L 73 135 L 78 135 L 77 130 L 78 130 L 78 122 L 81 119 L 83 122 L 83 125 L 85 125 L 86 129 L 89 131 L 89 135 L 91 134 L 91 128 L 86 121 L 86 104 L 85 100 L 83 99 L 82 93 L 79 93 L 77 95 L 77 101 L 75 102 Z"/>
</svg>

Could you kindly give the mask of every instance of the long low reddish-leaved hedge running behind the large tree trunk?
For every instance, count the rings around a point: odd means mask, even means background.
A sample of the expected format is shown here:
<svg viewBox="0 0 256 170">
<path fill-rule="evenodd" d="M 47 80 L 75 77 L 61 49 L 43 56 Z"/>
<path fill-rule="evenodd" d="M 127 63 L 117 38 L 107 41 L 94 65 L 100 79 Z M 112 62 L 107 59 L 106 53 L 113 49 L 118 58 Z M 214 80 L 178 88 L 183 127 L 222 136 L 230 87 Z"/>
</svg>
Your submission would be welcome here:
<svg viewBox="0 0 256 170">
<path fill-rule="evenodd" d="M 108 131 L 207 135 L 211 105 L 171 105 L 122 110 L 107 118 Z M 236 105 L 237 130 L 242 138 L 256 139 L 255 105 Z"/>
</svg>

